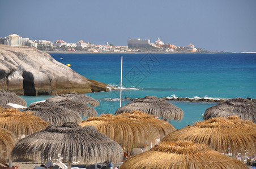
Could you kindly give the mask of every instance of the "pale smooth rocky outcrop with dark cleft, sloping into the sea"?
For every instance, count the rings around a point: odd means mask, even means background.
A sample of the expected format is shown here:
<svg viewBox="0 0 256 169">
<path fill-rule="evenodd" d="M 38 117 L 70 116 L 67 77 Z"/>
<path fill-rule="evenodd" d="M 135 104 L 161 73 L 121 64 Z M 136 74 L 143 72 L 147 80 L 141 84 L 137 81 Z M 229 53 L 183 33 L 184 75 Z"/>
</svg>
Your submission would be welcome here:
<svg viewBox="0 0 256 169">
<path fill-rule="evenodd" d="M 108 91 L 106 86 L 35 48 L 0 45 L 0 89 L 36 96 Z"/>
</svg>

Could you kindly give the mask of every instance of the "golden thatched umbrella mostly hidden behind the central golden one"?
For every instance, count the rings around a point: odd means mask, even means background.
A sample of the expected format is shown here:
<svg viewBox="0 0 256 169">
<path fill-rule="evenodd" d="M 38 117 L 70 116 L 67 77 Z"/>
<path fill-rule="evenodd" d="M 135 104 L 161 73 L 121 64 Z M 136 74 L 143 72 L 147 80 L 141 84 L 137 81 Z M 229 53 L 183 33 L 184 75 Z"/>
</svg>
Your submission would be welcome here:
<svg viewBox="0 0 256 169">
<path fill-rule="evenodd" d="M 160 134 L 160 139 L 163 139 L 166 135 L 168 135 L 170 132 L 173 132 L 176 130 L 172 124 L 165 122 L 161 119 L 157 119 L 154 115 L 146 114 L 140 111 L 132 111 L 131 113 L 121 113 L 118 114 L 123 117 L 127 117 L 129 119 L 145 122 L 149 126 L 155 127 L 157 130 L 157 133 Z"/>
</svg>

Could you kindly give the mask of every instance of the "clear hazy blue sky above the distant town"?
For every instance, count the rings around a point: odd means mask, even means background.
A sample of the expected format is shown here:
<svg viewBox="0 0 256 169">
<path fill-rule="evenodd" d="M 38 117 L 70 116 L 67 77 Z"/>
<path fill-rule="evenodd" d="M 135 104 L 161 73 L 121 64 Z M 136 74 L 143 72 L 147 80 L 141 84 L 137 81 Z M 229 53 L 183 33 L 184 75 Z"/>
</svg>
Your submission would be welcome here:
<svg viewBox="0 0 256 169">
<path fill-rule="evenodd" d="M 127 45 L 129 38 L 256 51 L 255 0 L 0 0 L 0 37 Z"/>
</svg>

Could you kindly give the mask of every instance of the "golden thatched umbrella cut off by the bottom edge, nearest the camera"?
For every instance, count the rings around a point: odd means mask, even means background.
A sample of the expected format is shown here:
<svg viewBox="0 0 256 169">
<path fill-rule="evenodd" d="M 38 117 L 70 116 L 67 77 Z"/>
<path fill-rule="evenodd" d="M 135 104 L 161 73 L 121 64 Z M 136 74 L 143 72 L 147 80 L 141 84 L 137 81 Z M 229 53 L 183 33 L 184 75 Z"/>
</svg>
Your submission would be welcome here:
<svg viewBox="0 0 256 169">
<path fill-rule="evenodd" d="M 245 163 L 192 141 L 164 142 L 131 156 L 120 169 L 248 168 Z"/>
</svg>

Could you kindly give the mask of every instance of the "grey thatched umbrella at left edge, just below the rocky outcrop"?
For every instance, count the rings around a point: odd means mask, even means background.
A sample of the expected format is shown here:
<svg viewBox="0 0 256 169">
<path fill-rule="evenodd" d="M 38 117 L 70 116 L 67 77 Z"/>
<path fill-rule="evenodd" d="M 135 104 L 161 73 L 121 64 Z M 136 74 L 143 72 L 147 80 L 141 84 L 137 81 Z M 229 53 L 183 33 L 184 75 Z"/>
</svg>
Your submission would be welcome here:
<svg viewBox="0 0 256 169">
<path fill-rule="evenodd" d="M 0 90 L 0 105 L 14 103 L 26 106 L 27 103 L 22 97 L 17 96 L 14 92 L 8 90 Z"/>
</svg>

